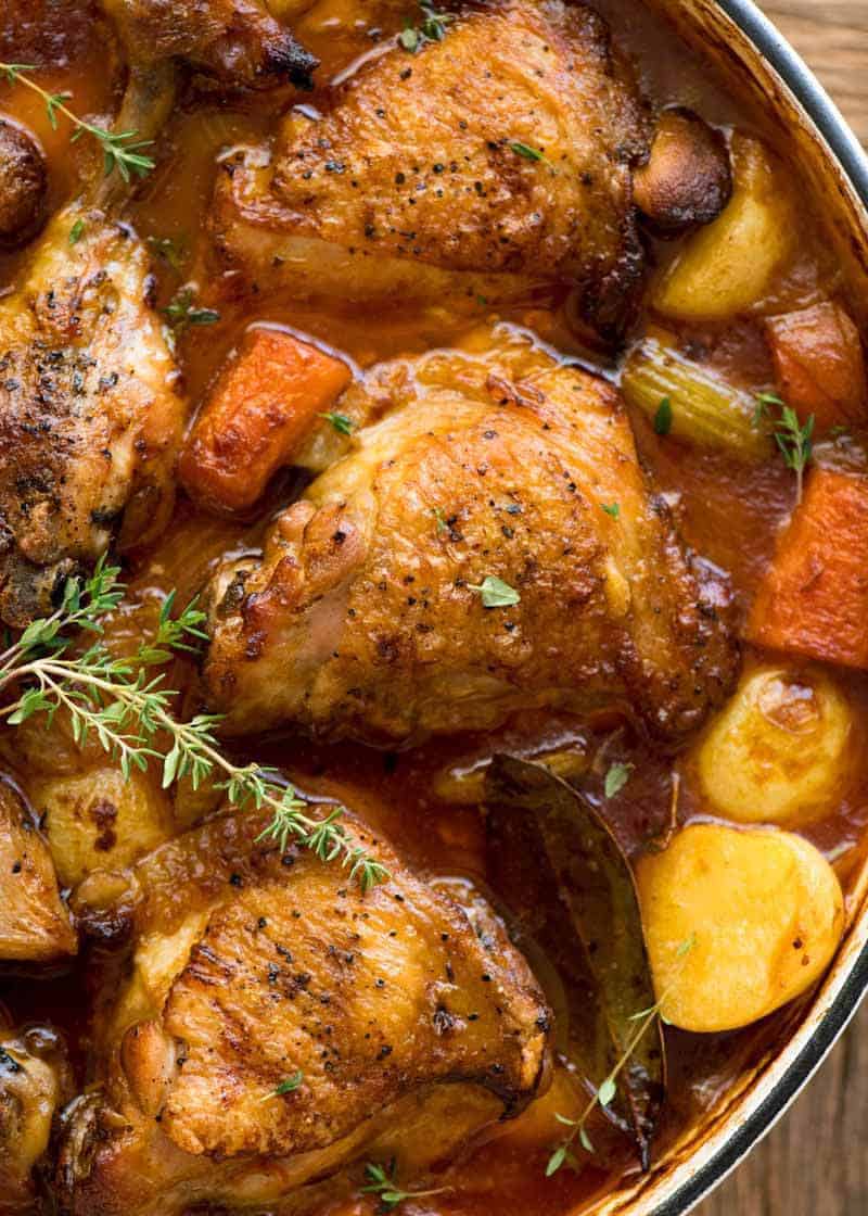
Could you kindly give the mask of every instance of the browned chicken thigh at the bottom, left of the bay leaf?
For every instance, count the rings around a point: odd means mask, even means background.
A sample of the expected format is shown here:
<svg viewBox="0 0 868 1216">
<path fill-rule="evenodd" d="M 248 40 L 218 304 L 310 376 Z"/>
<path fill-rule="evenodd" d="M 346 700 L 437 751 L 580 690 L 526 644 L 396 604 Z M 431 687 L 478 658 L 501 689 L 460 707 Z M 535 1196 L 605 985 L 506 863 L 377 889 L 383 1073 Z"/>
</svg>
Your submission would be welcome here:
<svg viewBox="0 0 868 1216">
<path fill-rule="evenodd" d="M 334 862 L 257 843 L 264 822 L 213 820 L 134 872 L 101 1087 L 61 1149 L 73 1214 L 294 1211 L 360 1156 L 427 1171 L 547 1081 L 549 1014 L 494 917 L 478 933 L 350 816 L 391 876 L 367 894 Z"/>
</svg>

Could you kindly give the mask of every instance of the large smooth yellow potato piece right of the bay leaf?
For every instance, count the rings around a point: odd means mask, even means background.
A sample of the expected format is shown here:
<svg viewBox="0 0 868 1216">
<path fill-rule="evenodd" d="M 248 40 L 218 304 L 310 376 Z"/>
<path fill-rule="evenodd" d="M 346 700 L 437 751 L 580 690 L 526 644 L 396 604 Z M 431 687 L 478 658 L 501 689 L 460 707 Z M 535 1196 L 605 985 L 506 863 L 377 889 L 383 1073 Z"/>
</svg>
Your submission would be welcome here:
<svg viewBox="0 0 868 1216">
<path fill-rule="evenodd" d="M 691 824 L 637 882 L 661 1014 L 682 1030 L 735 1030 L 791 1001 L 844 929 L 834 871 L 777 828 Z"/>
</svg>

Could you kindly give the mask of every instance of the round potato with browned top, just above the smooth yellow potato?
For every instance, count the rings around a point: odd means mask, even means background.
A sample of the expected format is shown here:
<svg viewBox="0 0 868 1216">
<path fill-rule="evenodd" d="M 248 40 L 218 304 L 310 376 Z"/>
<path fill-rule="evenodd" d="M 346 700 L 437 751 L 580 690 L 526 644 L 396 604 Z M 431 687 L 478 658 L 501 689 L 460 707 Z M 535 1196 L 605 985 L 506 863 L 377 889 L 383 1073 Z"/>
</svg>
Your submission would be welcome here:
<svg viewBox="0 0 868 1216">
<path fill-rule="evenodd" d="M 699 745 L 698 771 L 711 807 L 739 823 L 805 823 L 834 810 L 847 781 L 852 714 L 819 671 L 763 668 Z"/>
</svg>

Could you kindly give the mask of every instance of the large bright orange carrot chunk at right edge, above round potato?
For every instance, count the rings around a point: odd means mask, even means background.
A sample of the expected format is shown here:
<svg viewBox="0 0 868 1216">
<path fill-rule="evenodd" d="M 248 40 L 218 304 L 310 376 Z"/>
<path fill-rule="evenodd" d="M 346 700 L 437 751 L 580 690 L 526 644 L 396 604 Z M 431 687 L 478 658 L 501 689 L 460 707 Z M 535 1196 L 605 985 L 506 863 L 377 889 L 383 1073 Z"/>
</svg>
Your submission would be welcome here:
<svg viewBox="0 0 868 1216">
<path fill-rule="evenodd" d="M 751 642 L 868 668 L 868 474 L 813 468 L 748 620 Z"/>
</svg>

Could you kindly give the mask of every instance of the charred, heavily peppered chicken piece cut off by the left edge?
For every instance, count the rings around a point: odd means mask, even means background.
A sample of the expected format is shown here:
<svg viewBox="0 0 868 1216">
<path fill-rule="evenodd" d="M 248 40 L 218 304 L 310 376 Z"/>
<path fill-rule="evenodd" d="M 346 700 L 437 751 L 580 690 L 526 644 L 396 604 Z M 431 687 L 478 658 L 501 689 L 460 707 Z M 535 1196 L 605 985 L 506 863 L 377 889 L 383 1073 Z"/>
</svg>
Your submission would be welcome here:
<svg viewBox="0 0 868 1216">
<path fill-rule="evenodd" d="M 81 224 L 71 244 L 69 232 Z M 23 626 L 117 539 L 146 544 L 174 501 L 184 405 L 148 260 L 96 209 L 58 213 L 0 302 L 0 618 Z"/>
</svg>

